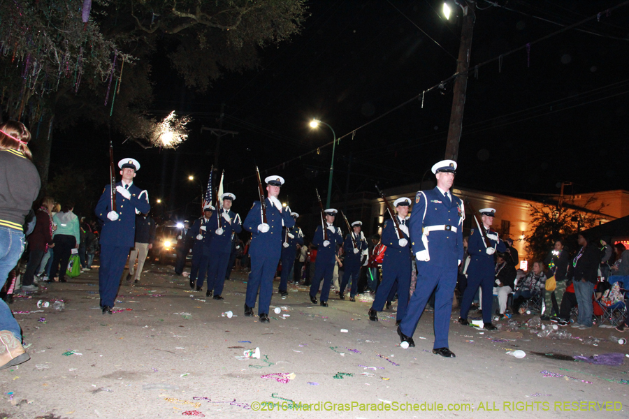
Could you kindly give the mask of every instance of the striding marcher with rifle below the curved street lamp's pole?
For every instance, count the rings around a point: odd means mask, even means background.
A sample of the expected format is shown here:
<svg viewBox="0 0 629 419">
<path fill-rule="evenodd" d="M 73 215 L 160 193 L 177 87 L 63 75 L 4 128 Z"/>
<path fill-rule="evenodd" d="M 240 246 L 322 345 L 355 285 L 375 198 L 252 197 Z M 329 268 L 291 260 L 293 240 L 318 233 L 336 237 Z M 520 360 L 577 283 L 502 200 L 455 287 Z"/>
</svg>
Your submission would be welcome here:
<svg viewBox="0 0 629 419">
<path fill-rule="evenodd" d="M 330 295 L 330 285 L 332 275 L 334 274 L 334 265 L 336 264 L 336 247 L 343 242 L 341 230 L 334 226 L 336 210 L 328 208 L 326 211 L 326 229 L 328 230 L 328 238 L 324 233 L 323 226 L 318 226 L 315 230 L 315 236 L 312 237 L 312 244 L 318 246 L 317 263 L 315 263 L 315 275 L 312 277 L 312 285 L 310 285 L 310 301 L 317 304 L 317 291 L 321 279 L 324 284 L 321 287 L 321 304 L 322 307 L 328 307 L 328 296 Z"/>
</svg>

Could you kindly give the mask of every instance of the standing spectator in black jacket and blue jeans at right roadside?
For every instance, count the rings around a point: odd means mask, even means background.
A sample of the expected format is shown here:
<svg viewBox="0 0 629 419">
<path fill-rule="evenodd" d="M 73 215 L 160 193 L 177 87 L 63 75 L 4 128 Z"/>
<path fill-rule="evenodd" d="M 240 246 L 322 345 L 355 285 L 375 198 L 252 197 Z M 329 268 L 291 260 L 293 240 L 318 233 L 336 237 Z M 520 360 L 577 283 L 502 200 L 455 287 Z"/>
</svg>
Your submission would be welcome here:
<svg viewBox="0 0 629 419">
<path fill-rule="evenodd" d="M 579 317 L 573 328 L 581 330 L 592 327 L 592 295 L 598 280 L 598 265 L 600 263 L 600 249 L 590 244 L 584 233 L 579 233 L 577 242 L 581 246 L 577 256 L 572 260 L 574 295 L 579 304 Z"/>
</svg>

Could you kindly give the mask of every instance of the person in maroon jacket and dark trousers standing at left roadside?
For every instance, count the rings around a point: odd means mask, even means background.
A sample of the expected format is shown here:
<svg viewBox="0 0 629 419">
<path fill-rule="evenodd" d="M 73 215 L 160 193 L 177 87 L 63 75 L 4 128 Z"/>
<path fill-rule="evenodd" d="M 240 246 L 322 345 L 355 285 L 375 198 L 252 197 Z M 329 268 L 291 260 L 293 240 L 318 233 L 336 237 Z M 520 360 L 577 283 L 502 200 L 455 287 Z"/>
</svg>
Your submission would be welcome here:
<svg viewBox="0 0 629 419">
<path fill-rule="evenodd" d="M 33 233 L 29 235 L 29 263 L 27 264 L 24 278 L 22 279 L 22 289 L 26 291 L 37 291 L 39 288 L 34 284 L 35 271 L 41 263 L 44 253 L 48 248 L 55 247 L 52 243 L 52 206 L 55 200 L 46 197 L 41 203 L 41 207 L 36 212 L 36 224 Z"/>
</svg>

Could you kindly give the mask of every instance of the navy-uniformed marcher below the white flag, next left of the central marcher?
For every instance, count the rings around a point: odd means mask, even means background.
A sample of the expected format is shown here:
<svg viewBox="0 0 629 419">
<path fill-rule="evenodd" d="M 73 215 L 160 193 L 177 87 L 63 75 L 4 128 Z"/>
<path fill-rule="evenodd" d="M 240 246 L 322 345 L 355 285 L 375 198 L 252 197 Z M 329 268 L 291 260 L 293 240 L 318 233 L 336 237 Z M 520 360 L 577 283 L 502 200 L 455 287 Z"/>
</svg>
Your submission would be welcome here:
<svg viewBox="0 0 629 419">
<path fill-rule="evenodd" d="M 208 291 L 205 292 L 205 296 L 212 296 L 213 289 L 215 300 L 223 300 L 223 285 L 225 284 L 227 264 L 231 256 L 231 241 L 235 233 L 238 234 L 243 230 L 243 226 L 240 225 L 240 216 L 231 211 L 231 205 L 235 199 L 236 195 L 233 193 L 223 193 L 221 196 L 222 210 L 212 217 L 214 221 L 210 222 L 208 226 L 212 240 L 210 241 Z"/>
</svg>

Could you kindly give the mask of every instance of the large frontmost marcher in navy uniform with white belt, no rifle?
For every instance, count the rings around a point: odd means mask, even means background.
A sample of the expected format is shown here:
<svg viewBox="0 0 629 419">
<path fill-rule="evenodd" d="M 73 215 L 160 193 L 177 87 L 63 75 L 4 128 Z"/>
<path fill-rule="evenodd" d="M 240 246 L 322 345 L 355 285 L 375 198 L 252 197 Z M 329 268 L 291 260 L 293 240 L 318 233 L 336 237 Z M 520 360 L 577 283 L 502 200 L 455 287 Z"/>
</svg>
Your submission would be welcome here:
<svg viewBox="0 0 629 419">
<path fill-rule="evenodd" d="M 450 192 L 456 162 L 444 160 L 432 168 L 437 178 L 435 189 L 419 191 L 408 221 L 412 253 L 417 259 L 417 286 L 406 315 L 398 327 L 404 344 L 415 346 L 413 334 L 426 302 L 435 293 L 435 343 L 433 353 L 454 358 L 448 347 L 452 295 L 458 264 L 463 258 L 463 201 Z"/>
</svg>

